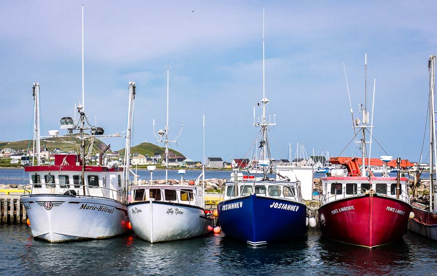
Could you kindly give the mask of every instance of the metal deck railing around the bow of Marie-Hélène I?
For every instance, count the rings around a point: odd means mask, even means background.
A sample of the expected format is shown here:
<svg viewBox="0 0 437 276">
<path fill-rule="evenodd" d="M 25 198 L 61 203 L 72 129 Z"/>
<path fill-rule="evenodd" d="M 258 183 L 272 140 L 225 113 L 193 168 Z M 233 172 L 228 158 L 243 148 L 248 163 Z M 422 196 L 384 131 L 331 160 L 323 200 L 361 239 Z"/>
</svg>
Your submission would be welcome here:
<svg viewBox="0 0 437 276">
<path fill-rule="evenodd" d="M 36 185 L 41 187 L 35 187 Z M 45 185 L 45 187 L 43 186 Z M 55 187 L 53 187 L 55 186 Z M 65 186 L 65 187 L 60 187 Z M 86 195 L 102 196 L 121 201 L 121 190 L 114 190 L 111 188 L 100 186 L 89 186 L 82 184 L 58 184 L 58 183 L 34 183 L 23 185 L 24 194 L 72 194 L 83 195 L 83 188 L 86 188 Z M 100 192 L 96 192 L 100 191 Z"/>
</svg>

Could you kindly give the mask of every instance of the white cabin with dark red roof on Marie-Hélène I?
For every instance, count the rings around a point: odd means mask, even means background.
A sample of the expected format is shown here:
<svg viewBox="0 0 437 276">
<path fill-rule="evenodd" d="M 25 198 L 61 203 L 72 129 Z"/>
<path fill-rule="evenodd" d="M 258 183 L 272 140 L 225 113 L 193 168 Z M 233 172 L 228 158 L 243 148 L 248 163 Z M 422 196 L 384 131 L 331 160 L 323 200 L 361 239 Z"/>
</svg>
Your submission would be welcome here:
<svg viewBox="0 0 437 276">
<path fill-rule="evenodd" d="M 122 168 L 86 166 L 81 183 L 82 165 L 76 154 L 55 155 L 54 165 L 27 166 L 29 184 L 24 186 L 30 194 L 73 194 L 103 196 L 121 201 Z"/>
</svg>

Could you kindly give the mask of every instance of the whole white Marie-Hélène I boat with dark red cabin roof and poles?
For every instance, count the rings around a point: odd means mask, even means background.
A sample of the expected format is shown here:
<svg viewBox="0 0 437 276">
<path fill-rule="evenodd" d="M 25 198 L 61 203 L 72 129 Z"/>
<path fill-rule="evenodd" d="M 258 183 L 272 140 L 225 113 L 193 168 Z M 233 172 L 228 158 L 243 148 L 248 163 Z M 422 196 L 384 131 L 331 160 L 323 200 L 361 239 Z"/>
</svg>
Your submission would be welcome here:
<svg viewBox="0 0 437 276">
<path fill-rule="evenodd" d="M 129 162 L 124 168 L 108 165 L 101 149 L 99 165 L 87 165 L 85 160 L 85 141 L 102 137 L 122 136 L 103 135 L 103 128 L 89 124 L 83 107 L 78 106 L 80 118 L 75 123 L 71 117 L 61 119 L 61 129 L 69 133 L 79 131 L 78 135 L 58 135 L 50 130 L 50 136 L 39 135 L 39 84 L 34 85 L 35 95 L 35 144 L 37 164 L 41 164 L 40 139 L 75 137 L 80 143 L 80 156 L 77 154 L 57 154 L 54 165 L 26 166 L 30 184 L 24 185 L 21 196 L 30 228 L 34 238 L 47 242 L 63 242 L 81 239 L 101 239 L 121 235 L 128 230 L 126 210 L 126 190 L 129 176 Z M 130 145 L 132 127 L 132 105 L 135 98 L 135 83 L 129 83 L 130 108 L 126 145 Z M 91 134 L 85 133 L 91 131 Z M 71 142 L 69 142 L 71 143 Z M 92 144 L 92 143 L 91 143 Z M 35 151 L 34 151 L 35 152 Z M 129 149 L 126 150 L 129 156 Z M 126 158 L 129 160 L 129 158 Z"/>
</svg>

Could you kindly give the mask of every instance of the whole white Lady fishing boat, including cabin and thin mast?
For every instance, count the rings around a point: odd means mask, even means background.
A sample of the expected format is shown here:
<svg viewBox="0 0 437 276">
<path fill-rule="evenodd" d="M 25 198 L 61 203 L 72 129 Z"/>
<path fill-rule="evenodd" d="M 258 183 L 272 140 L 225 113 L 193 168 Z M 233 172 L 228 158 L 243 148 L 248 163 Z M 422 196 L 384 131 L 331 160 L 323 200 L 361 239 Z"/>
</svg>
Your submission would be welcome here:
<svg viewBox="0 0 437 276">
<path fill-rule="evenodd" d="M 154 130 L 153 130 L 154 131 Z M 181 129 L 182 131 L 182 129 Z M 181 133 L 180 133 L 181 134 Z M 132 230 L 150 243 L 193 238 L 210 233 L 214 219 L 205 211 L 204 185 L 169 185 L 168 144 L 168 67 L 167 67 L 167 123 L 165 130 L 159 130 L 158 142 L 165 144 L 165 184 L 132 185 L 127 205 Z M 162 140 L 165 136 L 165 140 Z M 205 158 L 204 158 L 205 161 Z M 205 164 L 205 162 L 203 162 Z M 202 167 L 203 176 L 205 166 Z M 153 171 L 153 167 L 149 168 Z M 205 183 L 205 181 L 203 181 Z"/>
</svg>

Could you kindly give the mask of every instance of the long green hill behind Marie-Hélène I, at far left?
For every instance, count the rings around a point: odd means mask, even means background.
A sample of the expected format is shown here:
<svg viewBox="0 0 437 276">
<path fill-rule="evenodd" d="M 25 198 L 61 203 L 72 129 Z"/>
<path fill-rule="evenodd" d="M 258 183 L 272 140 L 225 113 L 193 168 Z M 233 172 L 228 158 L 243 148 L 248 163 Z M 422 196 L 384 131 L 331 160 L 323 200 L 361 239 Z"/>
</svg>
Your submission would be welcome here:
<svg viewBox="0 0 437 276">
<path fill-rule="evenodd" d="M 70 142 L 70 143 L 65 143 Z M 88 147 L 89 141 L 85 142 L 85 146 Z M 41 150 L 44 149 L 44 146 L 49 151 L 53 151 L 55 148 L 59 148 L 61 151 L 75 151 L 77 153 L 80 152 L 80 141 L 74 136 L 71 135 L 69 137 L 62 137 L 62 140 L 60 138 L 48 138 L 41 140 Z M 33 147 L 33 141 L 32 140 L 23 140 L 23 141 L 15 141 L 15 142 L 0 142 L 0 150 L 11 148 L 14 150 L 25 150 L 27 151 L 32 150 Z M 100 140 L 96 140 L 94 142 L 94 147 L 92 153 L 98 153 L 99 151 L 96 149 L 103 150 L 106 147 L 106 144 L 101 142 Z M 86 148 L 88 153 L 88 148 Z M 109 151 L 110 152 L 110 151 Z"/>
</svg>

